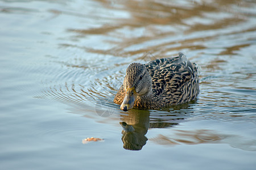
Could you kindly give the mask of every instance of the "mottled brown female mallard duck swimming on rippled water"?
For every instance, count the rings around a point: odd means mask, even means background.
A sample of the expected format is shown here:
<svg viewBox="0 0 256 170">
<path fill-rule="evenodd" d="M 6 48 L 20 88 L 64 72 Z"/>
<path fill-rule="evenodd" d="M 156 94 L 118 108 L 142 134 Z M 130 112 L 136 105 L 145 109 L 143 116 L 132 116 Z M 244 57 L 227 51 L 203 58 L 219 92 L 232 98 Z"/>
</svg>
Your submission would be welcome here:
<svg viewBox="0 0 256 170">
<path fill-rule="evenodd" d="M 158 109 L 186 103 L 199 94 L 196 63 L 179 53 L 146 64 L 131 63 L 114 97 L 123 111 L 134 108 Z"/>
</svg>

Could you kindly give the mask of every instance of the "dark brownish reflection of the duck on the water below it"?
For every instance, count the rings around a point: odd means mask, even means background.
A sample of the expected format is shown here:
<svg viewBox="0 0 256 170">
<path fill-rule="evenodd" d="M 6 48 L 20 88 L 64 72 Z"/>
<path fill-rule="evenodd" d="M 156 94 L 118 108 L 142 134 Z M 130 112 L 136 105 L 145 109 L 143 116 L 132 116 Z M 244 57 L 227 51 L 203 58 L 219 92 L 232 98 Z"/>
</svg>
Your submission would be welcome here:
<svg viewBox="0 0 256 170">
<path fill-rule="evenodd" d="M 162 111 L 146 111 L 132 109 L 128 112 L 121 113 L 122 142 L 126 150 L 141 150 L 146 145 L 148 128 L 170 128 L 178 125 L 185 120 L 181 109 L 187 109 L 189 104 L 182 104 L 179 107 L 163 108 Z"/>
</svg>

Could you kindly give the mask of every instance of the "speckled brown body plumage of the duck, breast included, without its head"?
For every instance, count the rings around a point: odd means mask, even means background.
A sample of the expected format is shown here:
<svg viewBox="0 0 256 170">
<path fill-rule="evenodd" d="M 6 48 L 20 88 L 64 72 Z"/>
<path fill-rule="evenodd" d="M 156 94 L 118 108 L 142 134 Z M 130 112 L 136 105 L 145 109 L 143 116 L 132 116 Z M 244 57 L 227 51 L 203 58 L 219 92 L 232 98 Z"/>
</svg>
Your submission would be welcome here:
<svg viewBox="0 0 256 170">
<path fill-rule="evenodd" d="M 169 105 L 187 103 L 199 94 L 199 76 L 197 66 L 179 53 L 178 57 L 161 58 L 146 63 L 146 69 L 152 78 L 152 94 L 137 96 L 134 108 L 158 109 Z M 141 68 L 132 72 L 136 76 Z M 119 88 L 114 103 L 122 104 L 126 91 Z"/>
</svg>

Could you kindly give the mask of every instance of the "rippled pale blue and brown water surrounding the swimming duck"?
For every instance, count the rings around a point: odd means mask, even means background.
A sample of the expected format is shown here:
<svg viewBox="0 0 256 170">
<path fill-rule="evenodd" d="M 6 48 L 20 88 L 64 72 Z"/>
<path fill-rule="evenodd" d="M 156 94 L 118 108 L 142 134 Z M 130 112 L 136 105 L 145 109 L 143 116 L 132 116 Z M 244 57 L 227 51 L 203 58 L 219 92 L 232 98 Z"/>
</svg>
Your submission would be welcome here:
<svg viewBox="0 0 256 170">
<path fill-rule="evenodd" d="M 0 1 L 1 169 L 254 169 L 255 8 Z M 113 103 L 131 62 L 178 52 L 200 66 L 196 102 L 127 113 Z"/>
</svg>

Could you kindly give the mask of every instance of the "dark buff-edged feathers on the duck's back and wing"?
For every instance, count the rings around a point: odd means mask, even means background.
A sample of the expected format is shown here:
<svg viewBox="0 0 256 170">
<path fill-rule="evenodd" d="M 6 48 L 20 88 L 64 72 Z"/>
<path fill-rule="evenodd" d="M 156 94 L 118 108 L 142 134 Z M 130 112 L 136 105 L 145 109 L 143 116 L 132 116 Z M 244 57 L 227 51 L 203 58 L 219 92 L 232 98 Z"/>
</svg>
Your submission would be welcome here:
<svg viewBox="0 0 256 170">
<path fill-rule="evenodd" d="M 178 57 L 161 58 L 145 64 L 152 77 L 152 91 L 162 96 L 166 104 L 179 104 L 191 100 L 191 81 L 197 76 L 194 66 L 184 54 Z"/>
</svg>

